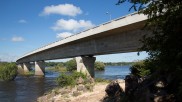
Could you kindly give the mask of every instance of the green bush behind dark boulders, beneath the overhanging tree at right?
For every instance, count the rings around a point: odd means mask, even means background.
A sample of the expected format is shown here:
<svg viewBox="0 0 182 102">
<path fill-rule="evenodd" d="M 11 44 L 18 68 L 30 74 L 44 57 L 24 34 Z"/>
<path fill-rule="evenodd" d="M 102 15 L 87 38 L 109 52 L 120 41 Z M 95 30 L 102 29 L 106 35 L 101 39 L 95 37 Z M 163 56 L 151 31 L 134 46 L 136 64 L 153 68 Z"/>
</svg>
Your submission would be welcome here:
<svg viewBox="0 0 182 102">
<path fill-rule="evenodd" d="M 145 67 L 144 61 L 138 61 L 135 62 L 130 67 L 131 74 L 138 76 L 138 77 L 144 77 L 151 73 L 150 69 Z"/>
</svg>

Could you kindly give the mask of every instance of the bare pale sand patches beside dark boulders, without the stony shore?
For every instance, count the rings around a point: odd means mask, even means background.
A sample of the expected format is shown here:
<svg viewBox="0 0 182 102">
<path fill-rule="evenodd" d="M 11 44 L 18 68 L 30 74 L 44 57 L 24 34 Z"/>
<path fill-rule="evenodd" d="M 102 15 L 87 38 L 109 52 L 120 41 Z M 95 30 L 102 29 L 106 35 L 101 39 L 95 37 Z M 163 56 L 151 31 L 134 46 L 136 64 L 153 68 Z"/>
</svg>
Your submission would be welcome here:
<svg viewBox="0 0 182 102">
<path fill-rule="evenodd" d="M 119 82 L 119 84 L 122 89 L 125 89 L 124 81 Z M 67 102 L 100 102 L 106 95 L 105 89 L 107 85 L 108 83 L 98 83 L 94 86 L 93 92 L 86 92 L 77 97 L 70 97 Z M 63 101 L 57 96 L 55 97 L 55 102 Z"/>
</svg>

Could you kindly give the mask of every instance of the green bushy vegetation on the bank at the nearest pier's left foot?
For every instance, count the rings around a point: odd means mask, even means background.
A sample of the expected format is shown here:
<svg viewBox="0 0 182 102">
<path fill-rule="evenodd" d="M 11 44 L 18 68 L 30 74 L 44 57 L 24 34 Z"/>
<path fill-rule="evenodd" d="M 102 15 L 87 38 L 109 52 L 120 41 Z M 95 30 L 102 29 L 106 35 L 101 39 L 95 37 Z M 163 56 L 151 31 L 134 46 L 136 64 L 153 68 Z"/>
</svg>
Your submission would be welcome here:
<svg viewBox="0 0 182 102">
<path fill-rule="evenodd" d="M 81 72 L 73 72 L 70 75 L 61 73 L 56 79 L 56 83 L 60 87 L 75 86 L 77 79 L 80 77 L 84 80 L 86 79 L 86 75 Z"/>
</svg>

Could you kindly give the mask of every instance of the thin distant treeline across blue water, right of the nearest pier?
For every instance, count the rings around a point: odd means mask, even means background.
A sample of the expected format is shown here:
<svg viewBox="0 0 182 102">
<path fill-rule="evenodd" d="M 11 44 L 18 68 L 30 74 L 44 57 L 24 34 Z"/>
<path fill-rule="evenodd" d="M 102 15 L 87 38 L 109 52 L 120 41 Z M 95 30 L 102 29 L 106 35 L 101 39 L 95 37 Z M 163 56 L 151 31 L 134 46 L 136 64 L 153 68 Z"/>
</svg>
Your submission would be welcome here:
<svg viewBox="0 0 182 102">
<path fill-rule="evenodd" d="M 125 66 L 132 65 L 134 62 L 105 62 L 106 66 Z"/>
</svg>

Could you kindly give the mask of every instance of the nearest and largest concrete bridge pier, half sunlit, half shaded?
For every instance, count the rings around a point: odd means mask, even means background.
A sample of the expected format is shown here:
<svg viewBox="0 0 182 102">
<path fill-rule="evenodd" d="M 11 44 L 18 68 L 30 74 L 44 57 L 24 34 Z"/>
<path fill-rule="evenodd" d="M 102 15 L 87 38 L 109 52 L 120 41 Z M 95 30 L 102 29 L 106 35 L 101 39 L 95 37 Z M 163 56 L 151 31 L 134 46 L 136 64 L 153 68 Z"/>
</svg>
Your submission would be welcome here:
<svg viewBox="0 0 182 102">
<path fill-rule="evenodd" d="M 83 72 L 86 73 L 87 76 L 91 76 L 94 78 L 95 72 L 94 72 L 94 63 L 95 63 L 96 57 L 76 57 L 76 63 L 77 63 L 77 72 Z"/>
</svg>

